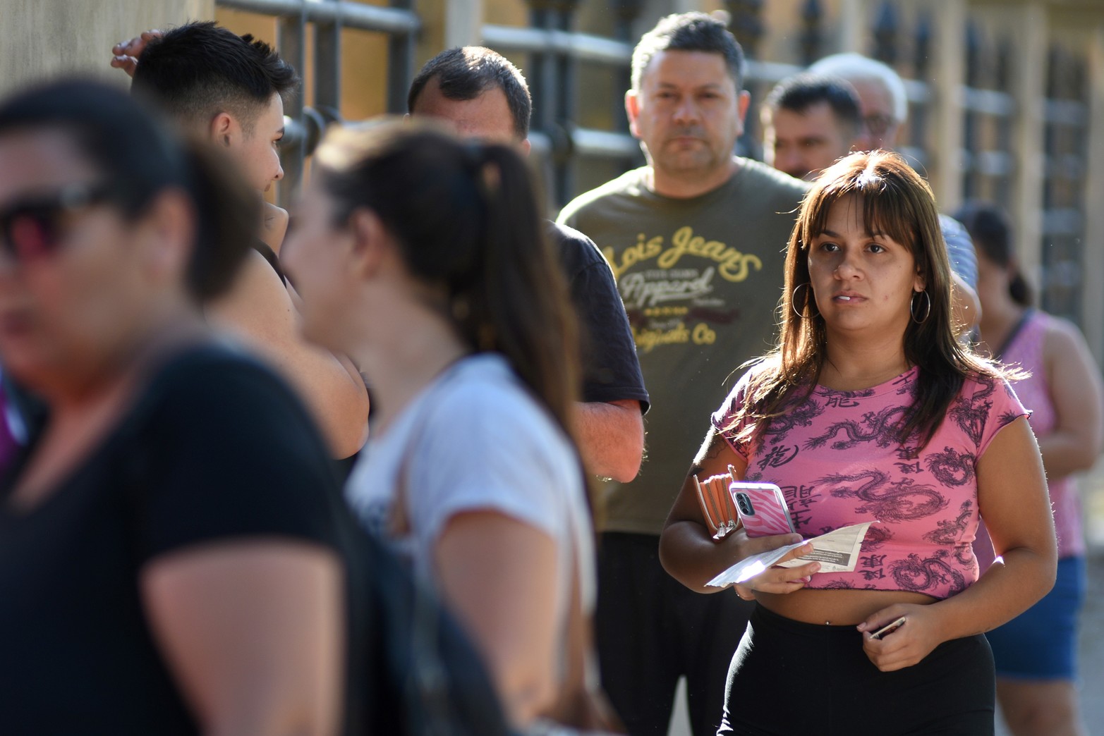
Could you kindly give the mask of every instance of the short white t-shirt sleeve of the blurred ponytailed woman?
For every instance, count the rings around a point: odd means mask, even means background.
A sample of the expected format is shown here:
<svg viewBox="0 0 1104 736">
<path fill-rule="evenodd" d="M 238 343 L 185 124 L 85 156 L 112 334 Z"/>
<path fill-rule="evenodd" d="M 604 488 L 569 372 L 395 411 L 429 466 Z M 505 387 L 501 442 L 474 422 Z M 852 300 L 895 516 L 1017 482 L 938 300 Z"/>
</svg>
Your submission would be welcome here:
<svg viewBox="0 0 1104 736">
<path fill-rule="evenodd" d="M 561 541 L 565 494 L 582 494 L 582 469 L 551 417 L 520 391 L 465 386 L 432 414 L 406 463 L 406 502 L 422 550 L 448 520 L 495 511 Z"/>
</svg>

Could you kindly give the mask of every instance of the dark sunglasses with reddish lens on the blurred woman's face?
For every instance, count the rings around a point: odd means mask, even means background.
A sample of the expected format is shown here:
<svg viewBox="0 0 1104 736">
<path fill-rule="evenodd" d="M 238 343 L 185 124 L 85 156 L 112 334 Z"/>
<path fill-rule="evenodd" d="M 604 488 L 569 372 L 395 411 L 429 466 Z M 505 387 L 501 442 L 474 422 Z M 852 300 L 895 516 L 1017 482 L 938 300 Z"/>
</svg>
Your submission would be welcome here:
<svg viewBox="0 0 1104 736">
<path fill-rule="evenodd" d="M 66 184 L 0 206 L 0 249 L 15 260 L 47 256 L 61 246 L 66 214 L 107 199 L 107 184 Z"/>
</svg>

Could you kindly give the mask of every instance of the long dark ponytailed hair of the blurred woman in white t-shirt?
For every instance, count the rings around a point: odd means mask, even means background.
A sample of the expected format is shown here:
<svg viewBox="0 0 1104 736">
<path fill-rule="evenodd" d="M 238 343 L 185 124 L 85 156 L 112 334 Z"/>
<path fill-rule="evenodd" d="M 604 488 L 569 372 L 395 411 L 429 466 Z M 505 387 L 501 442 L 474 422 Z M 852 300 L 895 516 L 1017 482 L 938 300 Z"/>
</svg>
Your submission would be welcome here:
<svg viewBox="0 0 1104 736">
<path fill-rule="evenodd" d="M 421 122 L 338 128 L 315 156 L 337 224 L 371 209 L 473 351 L 496 351 L 569 436 L 578 340 L 531 178 L 512 149 Z"/>
</svg>

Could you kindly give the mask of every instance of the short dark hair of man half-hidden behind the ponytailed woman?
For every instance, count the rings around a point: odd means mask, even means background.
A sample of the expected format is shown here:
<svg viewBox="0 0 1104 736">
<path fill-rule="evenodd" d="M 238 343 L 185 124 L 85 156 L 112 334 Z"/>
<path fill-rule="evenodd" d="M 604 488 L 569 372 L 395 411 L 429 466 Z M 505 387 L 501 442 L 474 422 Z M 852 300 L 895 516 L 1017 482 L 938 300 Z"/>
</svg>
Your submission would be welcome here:
<svg viewBox="0 0 1104 736">
<path fill-rule="evenodd" d="M 484 46 L 463 46 L 440 52 L 425 63 L 411 83 L 406 95 L 407 113 L 414 111 L 417 98 L 434 77 L 437 78 L 440 94 L 448 99 L 475 99 L 488 89 L 498 87 L 506 95 L 518 139 L 529 137 L 529 119 L 533 114 L 529 85 L 518 67 L 502 54 Z"/>
</svg>

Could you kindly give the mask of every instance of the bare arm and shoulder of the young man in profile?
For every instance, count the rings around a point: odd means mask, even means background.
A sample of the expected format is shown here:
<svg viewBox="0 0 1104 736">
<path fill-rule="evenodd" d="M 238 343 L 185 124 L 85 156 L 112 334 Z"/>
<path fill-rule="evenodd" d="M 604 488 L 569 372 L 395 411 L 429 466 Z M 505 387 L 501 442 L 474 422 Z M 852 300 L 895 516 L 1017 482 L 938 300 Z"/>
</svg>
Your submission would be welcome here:
<svg viewBox="0 0 1104 736">
<path fill-rule="evenodd" d="M 230 294 L 208 308 L 209 321 L 266 359 L 298 392 L 335 458 L 368 436 L 368 391 L 347 358 L 308 344 L 291 295 L 259 253 L 251 250 Z"/>
</svg>

